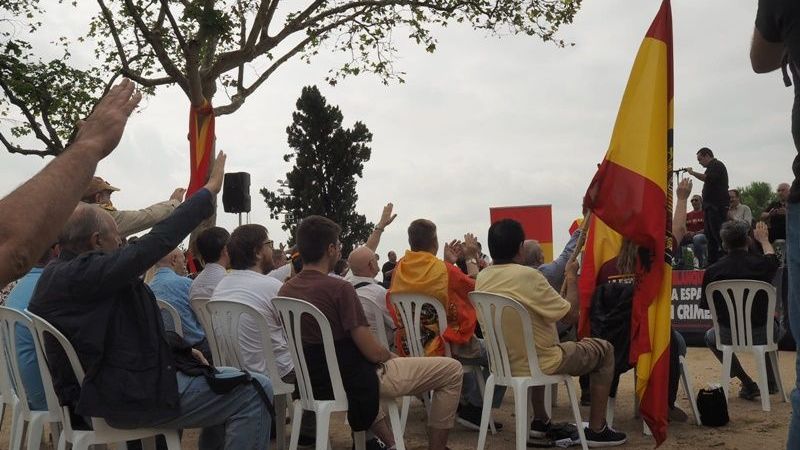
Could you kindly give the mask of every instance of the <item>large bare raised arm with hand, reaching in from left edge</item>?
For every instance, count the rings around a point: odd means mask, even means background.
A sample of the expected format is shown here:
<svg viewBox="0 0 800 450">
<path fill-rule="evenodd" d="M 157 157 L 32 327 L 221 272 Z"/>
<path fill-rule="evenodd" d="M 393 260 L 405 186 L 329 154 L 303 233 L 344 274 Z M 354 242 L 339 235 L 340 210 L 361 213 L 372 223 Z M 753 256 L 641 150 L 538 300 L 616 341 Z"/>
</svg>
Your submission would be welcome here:
<svg viewBox="0 0 800 450">
<path fill-rule="evenodd" d="M 140 99 L 130 80 L 112 87 L 64 153 L 0 200 L 0 286 L 24 275 L 53 245 Z"/>
</svg>

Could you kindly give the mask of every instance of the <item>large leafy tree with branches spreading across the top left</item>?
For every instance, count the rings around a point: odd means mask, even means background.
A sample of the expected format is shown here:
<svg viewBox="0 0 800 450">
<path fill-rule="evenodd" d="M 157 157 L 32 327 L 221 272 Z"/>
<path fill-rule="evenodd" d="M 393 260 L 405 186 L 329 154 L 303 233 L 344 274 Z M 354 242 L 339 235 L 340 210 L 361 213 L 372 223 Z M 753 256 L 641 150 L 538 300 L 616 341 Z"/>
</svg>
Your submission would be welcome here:
<svg viewBox="0 0 800 450">
<path fill-rule="evenodd" d="M 328 81 L 372 72 L 403 79 L 396 39 L 433 52 L 434 31 L 455 23 L 498 34 L 526 34 L 564 45 L 555 33 L 581 0 L 96 0 L 88 35 L 97 62 L 78 67 L 71 43 L 43 60 L 30 36 L 46 29 L 37 0 L 0 2 L 0 142 L 10 152 L 57 155 L 74 124 L 117 76 L 148 92 L 177 85 L 191 104 L 215 116 L 239 109 L 285 62 L 341 51 Z M 73 0 L 73 4 L 77 1 Z M 81 7 L 85 4 L 82 3 Z M 74 51 L 74 48 L 72 48 Z M 218 96 L 224 93 L 222 99 Z M 32 136 L 40 145 L 22 145 Z"/>
</svg>

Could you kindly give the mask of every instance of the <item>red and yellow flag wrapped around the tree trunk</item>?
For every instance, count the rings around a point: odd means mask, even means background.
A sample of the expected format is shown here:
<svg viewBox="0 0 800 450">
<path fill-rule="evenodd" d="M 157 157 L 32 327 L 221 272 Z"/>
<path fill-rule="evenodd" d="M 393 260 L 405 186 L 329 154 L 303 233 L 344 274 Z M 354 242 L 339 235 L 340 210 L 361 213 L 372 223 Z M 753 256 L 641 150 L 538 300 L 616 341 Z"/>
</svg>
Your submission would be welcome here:
<svg viewBox="0 0 800 450">
<path fill-rule="evenodd" d="M 214 108 L 207 100 L 189 111 L 189 198 L 208 180 L 208 170 L 214 154 Z"/>
</svg>

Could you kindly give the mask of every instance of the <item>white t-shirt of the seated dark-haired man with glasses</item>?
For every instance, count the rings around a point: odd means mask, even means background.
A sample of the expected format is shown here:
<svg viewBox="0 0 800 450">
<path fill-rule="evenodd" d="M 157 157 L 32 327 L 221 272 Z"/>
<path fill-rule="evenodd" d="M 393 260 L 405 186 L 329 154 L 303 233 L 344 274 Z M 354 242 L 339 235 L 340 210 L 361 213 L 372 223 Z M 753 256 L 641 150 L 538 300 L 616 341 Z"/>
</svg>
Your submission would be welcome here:
<svg viewBox="0 0 800 450">
<path fill-rule="evenodd" d="M 272 341 L 272 351 L 281 378 L 294 369 L 286 334 L 281 326 L 278 310 L 272 299 L 278 295 L 280 281 L 252 270 L 232 270 L 217 288 L 211 300 L 234 300 L 252 306 L 264 316 Z M 249 315 L 243 315 L 239 322 L 239 345 L 242 352 L 243 369 L 267 374 L 267 363 L 264 361 L 263 347 L 258 328 Z"/>
</svg>

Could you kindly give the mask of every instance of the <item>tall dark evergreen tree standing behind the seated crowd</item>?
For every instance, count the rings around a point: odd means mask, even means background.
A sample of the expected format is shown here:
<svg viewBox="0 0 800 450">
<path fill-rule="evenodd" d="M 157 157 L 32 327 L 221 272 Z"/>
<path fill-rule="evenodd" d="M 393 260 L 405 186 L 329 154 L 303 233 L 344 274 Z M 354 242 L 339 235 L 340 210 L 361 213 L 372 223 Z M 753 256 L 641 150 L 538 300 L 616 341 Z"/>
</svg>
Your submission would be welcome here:
<svg viewBox="0 0 800 450">
<path fill-rule="evenodd" d="M 289 232 L 290 245 L 300 220 L 317 214 L 342 227 L 342 254 L 347 256 L 373 228 L 356 212 L 356 177 L 362 177 L 369 161 L 372 133 L 361 122 L 343 128 L 342 119 L 339 107 L 329 105 L 316 86 L 304 87 L 286 128 L 291 152 L 283 159 L 294 160 L 294 167 L 285 180 L 278 180 L 281 187 L 262 188 L 261 194 L 270 217 L 283 216 L 281 227 Z"/>
</svg>

